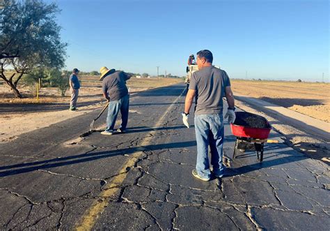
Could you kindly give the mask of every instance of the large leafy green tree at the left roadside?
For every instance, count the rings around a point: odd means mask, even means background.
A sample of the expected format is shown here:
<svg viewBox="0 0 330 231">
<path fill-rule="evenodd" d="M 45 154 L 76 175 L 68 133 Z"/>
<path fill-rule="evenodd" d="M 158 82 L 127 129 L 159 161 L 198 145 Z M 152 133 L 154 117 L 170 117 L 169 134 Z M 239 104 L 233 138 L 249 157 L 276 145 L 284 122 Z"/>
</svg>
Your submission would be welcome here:
<svg viewBox="0 0 330 231">
<path fill-rule="evenodd" d="M 61 68 L 66 43 L 60 39 L 61 27 L 54 20 L 56 3 L 40 0 L 4 0 L 0 9 L 0 76 L 22 98 L 17 83 L 35 68 Z M 13 68 L 14 73 L 5 73 Z"/>
</svg>

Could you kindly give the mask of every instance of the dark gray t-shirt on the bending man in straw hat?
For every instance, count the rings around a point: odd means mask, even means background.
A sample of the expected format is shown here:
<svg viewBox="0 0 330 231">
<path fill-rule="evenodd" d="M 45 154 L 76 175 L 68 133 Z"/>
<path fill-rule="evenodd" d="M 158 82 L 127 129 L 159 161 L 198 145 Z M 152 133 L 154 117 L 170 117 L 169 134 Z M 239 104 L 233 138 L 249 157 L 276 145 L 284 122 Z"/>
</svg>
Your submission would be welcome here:
<svg viewBox="0 0 330 231">
<path fill-rule="evenodd" d="M 119 100 L 127 96 L 128 89 L 126 87 L 126 80 L 129 76 L 123 71 L 116 71 L 111 75 L 104 77 L 102 80 L 102 91 L 107 93 L 110 101 Z"/>
</svg>

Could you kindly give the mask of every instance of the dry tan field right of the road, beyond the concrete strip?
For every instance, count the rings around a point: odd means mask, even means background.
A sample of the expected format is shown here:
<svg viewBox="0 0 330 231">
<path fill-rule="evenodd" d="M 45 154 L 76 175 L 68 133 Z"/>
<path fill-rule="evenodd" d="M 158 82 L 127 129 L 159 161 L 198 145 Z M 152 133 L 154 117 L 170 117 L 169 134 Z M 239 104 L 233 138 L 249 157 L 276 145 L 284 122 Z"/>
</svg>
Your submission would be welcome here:
<svg viewBox="0 0 330 231">
<path fill-rule="evenodd" d="M 260 98 L 290 110 L 330 122 L 330 84 L 232 80 L 234 94 Z"/>
</svg>

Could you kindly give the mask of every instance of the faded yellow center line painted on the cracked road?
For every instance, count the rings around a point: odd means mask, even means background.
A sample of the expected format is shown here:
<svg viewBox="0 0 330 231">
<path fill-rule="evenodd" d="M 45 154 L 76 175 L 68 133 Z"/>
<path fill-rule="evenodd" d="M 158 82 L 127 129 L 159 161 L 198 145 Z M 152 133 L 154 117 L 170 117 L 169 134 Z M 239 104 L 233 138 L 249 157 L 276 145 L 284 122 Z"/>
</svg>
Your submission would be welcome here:
<svg viewBox="0 0 330 231">
<path fill-rule="evenodd" d="M 178 102 L 179 98 L 182 96 L 184 93 L 184 90 L 178 96 L 178 98 L 175 98 L 173 103 L 167 108 L 166 112 L 163 114 L 163 116 L 159 119 L 155 127 L 159 127 L 162 125 L 162 121 L 164 121 L 164 118 L 166 117 L 166 114 L 172 110 L 174 107 L 175 103 Z M 157 131 L 151 131 L 151 134 L 154 135 Z M 142 140 L 141 146 L 147 146 L 150 144 L 150 140 L 152 140 L 152 137 L 146 137 Z M 107 207 L 107 204 L 109 204 L 110 197 L 118 193 L 120 189 L 120 184 L 123 183 L 127 176 L 127 167 L 133 167 L 136 163 L 136 160 L 143 155 L 143 151 L 137 151 L 134 154 L 132 154 L 132 158 L 129 158 L 129 160 L 123 165 L 123 167 L 120 169 L 119 173 L 117 176 L 113 177 L 109 185 L 100 193 L 99 197 L 103 198 L 100 202 L 100 200 L 95 200 L 93 202 L 92 206 L 90 209 L 86 211 L 84 214 L 83 218 L 79 223 L 77 224 L 76 230 L 91 230 L 93 226 L 95 225 L 95 222 L 97 221 L 97 218 L 102 212 L 104 211 L 105 207 Z"/>
</svg>

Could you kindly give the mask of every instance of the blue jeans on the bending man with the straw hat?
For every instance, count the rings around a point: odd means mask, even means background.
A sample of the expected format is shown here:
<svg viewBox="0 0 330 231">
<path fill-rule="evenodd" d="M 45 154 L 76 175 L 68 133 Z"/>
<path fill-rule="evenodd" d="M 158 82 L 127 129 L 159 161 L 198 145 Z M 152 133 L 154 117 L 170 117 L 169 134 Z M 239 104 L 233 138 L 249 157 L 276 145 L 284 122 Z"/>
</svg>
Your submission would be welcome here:
<svg viewBox="0 0 330 231">
<path fill-rule="evenodd" d="M 122 130 L 126 129 L 128 121 L 128 109 L 129 109 L 129 95 L 109 102 L 108 116 L 107 116 L 107 129 L 106 131 L 113 131 L 113 127 L 116 124 L 118 112 L 121 113 L 121 126 Z"/>
</svg>

